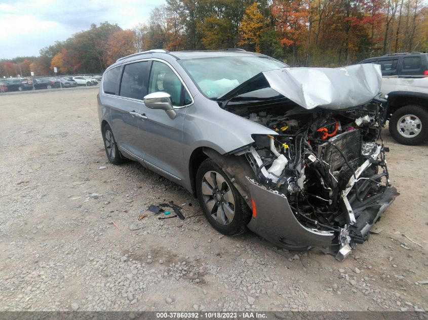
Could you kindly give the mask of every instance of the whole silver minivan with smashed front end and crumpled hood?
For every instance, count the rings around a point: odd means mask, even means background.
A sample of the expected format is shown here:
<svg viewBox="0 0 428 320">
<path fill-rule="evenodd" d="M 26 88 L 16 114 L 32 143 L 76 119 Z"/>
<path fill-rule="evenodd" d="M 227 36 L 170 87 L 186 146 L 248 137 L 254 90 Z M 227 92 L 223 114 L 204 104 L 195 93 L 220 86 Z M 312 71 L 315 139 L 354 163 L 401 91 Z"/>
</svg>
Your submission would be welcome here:
<svg viewBox="0 0 428 320">
<path fill-rule="evenodd" d="M 290 68 L 243 50 L 151 50 L 103 74 L 108 160 L 196 195 L 211 225 L 343 260 L 398 195 L 380 138 L 380 68 Z"/>
</svg>

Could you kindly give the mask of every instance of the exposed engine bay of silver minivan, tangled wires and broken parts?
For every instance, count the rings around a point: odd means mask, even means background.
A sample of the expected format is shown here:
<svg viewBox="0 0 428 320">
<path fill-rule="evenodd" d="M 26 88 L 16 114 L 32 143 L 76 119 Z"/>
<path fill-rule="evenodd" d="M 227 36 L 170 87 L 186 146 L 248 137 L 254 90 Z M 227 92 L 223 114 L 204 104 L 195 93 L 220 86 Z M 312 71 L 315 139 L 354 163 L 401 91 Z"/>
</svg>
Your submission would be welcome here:
<svg viewBox="0 0 428 320">
<path fill-rule="evenodd" d="M 380 206 L 376 201 L 390 187 L 388 149 L 380 134 L 382 101 L 344 110 L 238 110 L 277 133 L 253 135 L 255 143 L 239 154 L 250 163 L 255 181 L 284 195 L 304 227 L 334 234 L 338 255 L 367 240 L 378 218 L 368 212 Z"/>
</svg>

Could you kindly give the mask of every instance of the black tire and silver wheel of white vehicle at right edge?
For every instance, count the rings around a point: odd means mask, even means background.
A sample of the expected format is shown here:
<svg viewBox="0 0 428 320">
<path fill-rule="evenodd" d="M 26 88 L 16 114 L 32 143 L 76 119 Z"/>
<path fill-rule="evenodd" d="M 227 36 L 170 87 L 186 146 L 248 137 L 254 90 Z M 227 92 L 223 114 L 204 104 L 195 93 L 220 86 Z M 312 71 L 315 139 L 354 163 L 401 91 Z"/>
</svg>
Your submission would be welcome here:
<svg viewBox="0 0 428 320">
<path fill-rule="evenodd" d="M 428 112 L 418 105 L 401 107 L 393 113 L 389 129 L 398 143 L 420 145 L 428 139 Z"/>
</svg>

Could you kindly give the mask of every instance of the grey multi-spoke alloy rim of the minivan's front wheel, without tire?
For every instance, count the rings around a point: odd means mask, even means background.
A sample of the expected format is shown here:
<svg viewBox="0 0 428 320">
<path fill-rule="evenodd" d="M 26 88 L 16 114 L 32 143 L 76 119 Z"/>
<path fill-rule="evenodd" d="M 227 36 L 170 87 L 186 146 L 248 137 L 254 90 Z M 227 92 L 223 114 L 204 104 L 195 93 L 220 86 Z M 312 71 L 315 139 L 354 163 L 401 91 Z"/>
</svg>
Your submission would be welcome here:
<svg viewBox="0 0 428 320">
<path fill-rule="evenodd" d="M 222 225 L 235 217 L 235 199 L 224 177 L 216 171 L 207 171 L 202 179 L 202 198 L 211 216 Z"/>
</svg>

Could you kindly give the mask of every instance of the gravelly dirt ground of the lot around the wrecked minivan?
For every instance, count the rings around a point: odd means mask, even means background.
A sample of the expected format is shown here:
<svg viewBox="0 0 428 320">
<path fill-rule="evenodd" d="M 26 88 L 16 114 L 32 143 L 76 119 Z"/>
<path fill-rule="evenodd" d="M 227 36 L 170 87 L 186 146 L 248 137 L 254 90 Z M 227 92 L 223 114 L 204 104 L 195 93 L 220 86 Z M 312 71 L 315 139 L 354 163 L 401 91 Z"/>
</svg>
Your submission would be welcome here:
<svg viewBox="0 0 428 320">
<path fill-rule="evenodd" d="M 418 283 L 428 280 L 426 144 L 402 146 L 383 130 L 401 196 L 382 231 L 340 263 L 250 232 L 224 237 L 181 187 L 134 162 L 109 164 L 96 95 L 0 96 L 0 310 L 428 308 Z M 168 201 L 187 218 L 147 210 Z"/>
</svg>

